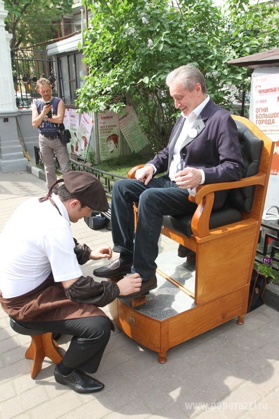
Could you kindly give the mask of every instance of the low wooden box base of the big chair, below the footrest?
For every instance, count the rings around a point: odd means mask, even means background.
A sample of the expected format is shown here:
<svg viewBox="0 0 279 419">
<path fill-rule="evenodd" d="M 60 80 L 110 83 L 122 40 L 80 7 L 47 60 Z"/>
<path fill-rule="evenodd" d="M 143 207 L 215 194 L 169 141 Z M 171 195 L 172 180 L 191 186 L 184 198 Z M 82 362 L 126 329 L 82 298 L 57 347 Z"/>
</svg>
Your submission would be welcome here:
<svg viewBox="0 0 279 419">
<path fill-rule="evenodd" d="M 246 301 L 248 292 L 248 288 L 245 288 L 163 321 L 146 316 L 119 298 L 110 304 L 110 312 L 128 337 L 157 352 L 158 362 L 164 364 L 167 362 L 167 351 L 170 348 L 236 317 L 236 323 L 243 324 L 245 314 L 240 313 L 243 311 L 243 301 Z M 226 308 L 220 309 L 220 304 L 225 304 Z"/>
</svg>

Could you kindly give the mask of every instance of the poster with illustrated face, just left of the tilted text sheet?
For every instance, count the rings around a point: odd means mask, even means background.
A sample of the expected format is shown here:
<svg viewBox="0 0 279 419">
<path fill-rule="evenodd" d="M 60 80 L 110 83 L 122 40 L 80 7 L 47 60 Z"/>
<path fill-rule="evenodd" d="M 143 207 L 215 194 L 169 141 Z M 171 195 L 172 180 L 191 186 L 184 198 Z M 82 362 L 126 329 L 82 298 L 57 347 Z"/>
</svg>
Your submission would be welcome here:
<svg viewBox="0 0 279 419">
<path fill-rule="evenodd" d="M 101 159 L 119 156 L 119 120 L 118 115 L 109 110 L 98 114 Z"/>
</svg>

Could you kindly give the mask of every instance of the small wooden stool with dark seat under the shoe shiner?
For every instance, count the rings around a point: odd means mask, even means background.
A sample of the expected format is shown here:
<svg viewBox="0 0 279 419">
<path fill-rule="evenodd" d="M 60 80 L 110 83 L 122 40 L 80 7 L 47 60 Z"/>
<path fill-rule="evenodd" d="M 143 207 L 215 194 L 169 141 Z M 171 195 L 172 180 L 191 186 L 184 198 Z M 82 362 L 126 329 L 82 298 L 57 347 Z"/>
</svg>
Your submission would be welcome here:
<svg viewBox="0 0 279 419">
<path fill-rule="evenodd" d="M 31 336 L 31 344 L 25 353 L 25 358 L 33 360 L 31 366 L 31 378 L 35 378 L 42 369 L 43 360 L 47 356 L 54 364 L 58 364 L 62 360 L 62 356 L 58 351 L 58 344 L 52 338 L 52 333 L 42 332 L 41 330 L 33 330 L 25 328 L 10 317 L 10 327 L 20 335 Z"/>
</svg>

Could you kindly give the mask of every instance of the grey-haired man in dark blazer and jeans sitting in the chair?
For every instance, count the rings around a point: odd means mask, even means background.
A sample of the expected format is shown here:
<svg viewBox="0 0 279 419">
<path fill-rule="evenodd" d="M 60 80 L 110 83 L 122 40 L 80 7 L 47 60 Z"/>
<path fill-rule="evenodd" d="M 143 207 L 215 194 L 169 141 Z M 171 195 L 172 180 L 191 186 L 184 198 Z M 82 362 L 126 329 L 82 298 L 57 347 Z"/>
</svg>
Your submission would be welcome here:
<svg viewBox="0 0 279 419">
<path fill-rule="evenodd" d="M 96 277 L 117 277 L 137 272 L 142 295 L 156 288 L 158 240 L 164 215 L 193 214 L 188 200 L 200 184 L 241 179 L 244 166 L 234 120 L 206 94 L 202 73 L 192 64 L 167 75 L 166 84 L 181 110 L 165 149 L 135 179 L 121 179 L 112 191 L 113 250 L 120 253 L 109 265 L 94 270 Z M 159 173 L 166 172 L 161 177 Z M 216 193 L 213 210 L 223 207 L 227 191 Z M 133 202 L 138 203 L 134 237 Z"/>
</svg>

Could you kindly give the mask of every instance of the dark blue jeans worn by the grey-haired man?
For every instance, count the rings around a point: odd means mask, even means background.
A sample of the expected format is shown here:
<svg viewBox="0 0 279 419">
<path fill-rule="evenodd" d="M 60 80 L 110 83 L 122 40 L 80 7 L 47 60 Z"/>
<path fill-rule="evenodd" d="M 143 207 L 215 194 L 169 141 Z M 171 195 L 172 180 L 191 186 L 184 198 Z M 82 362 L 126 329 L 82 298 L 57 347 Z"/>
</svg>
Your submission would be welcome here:
<svg viewBox="0 0 279 419">
<path fill-rule="evenodd" d="M 133 256 L 132 272 L 148 280 L 156 272 L 158 240 L 164 215 L 193 214 L 197 205 L 188 200 L 169 177 L 153 178 L 148 185 L 121 179 L 112 189 L 112 239 L 114 251 Z M 138 203 L 134 237 L 133 203 Z"/>
</svg>

